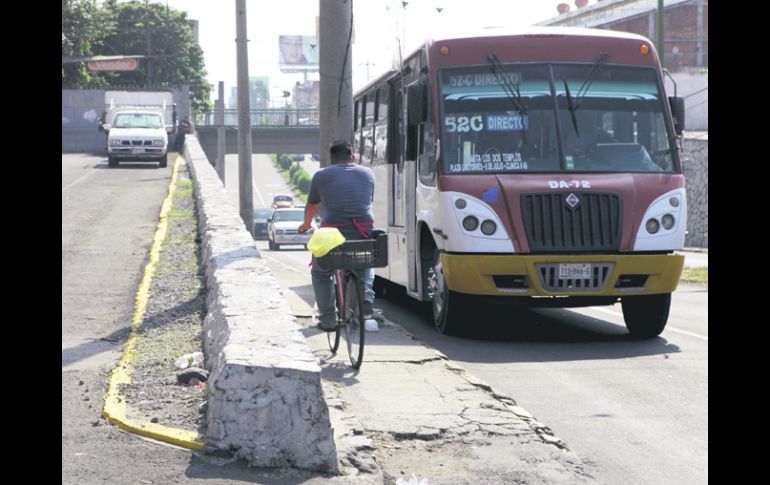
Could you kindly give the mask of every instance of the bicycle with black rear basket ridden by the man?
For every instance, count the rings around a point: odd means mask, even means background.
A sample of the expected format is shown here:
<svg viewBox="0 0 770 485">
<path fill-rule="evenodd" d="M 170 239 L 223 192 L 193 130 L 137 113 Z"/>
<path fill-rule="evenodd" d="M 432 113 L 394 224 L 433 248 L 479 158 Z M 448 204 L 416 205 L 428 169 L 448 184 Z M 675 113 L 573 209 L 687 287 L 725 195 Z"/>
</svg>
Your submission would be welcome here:
<svg viewBox="0 0 770 485">
<path fill-rule="evenodd" d="M 364 282 L 356 270 L 388 265 L 388 235 L 379 230 L 371 239 L 347 241 L 316 258 L 319 267 L 334 270 L 334 298 L 337 304 L 337 328 L 326 333 L 332 354 L 337 353 L 342 329 L 350 363 L 359 369 L 364 359 Z"/>
</svg>

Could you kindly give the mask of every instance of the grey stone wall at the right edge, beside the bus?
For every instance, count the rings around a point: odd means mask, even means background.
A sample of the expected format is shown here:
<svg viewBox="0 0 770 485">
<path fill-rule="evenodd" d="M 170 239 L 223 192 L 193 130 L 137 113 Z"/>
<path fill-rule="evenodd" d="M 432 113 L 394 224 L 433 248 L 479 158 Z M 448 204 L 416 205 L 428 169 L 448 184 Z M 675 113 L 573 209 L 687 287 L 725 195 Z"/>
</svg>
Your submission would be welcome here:
<svg viewBox="0 0 770 485">
<path fill-rule="evenodd" d="M 685 133 L 684 160 L 687 188 L 686 247 L 708 248 L 709 140 L 708 132 Z"/>
</svg>

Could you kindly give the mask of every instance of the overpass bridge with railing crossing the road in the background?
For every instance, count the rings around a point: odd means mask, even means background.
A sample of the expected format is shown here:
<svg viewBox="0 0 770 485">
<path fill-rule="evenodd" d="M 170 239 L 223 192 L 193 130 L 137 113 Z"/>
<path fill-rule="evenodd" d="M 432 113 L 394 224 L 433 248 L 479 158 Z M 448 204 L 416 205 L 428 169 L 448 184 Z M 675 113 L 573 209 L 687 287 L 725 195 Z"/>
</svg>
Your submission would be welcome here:
<svg viewBox="0 0 770 485">
<path fill-rule="evenodd" d="M 252 153 L 319 153 L 318 109 L 254 109 L 251 120 Z M 210 162 L 217 158 L 215 113 L 193 113 L 198 141 Z M 238 153 L 238 110 L 225 110 L 225 154 Z"/>
</svg>

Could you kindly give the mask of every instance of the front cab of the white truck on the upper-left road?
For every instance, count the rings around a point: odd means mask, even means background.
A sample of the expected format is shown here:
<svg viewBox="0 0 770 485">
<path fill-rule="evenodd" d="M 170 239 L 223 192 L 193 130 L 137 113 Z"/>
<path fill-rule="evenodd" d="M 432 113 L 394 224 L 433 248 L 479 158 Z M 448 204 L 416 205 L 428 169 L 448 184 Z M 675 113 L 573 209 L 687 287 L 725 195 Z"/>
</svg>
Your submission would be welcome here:
<svg viewBox="0 0 770 485">
<path fill-rule="evenodd" d="M 160 168 L 168 165 L 168 134 L 160 112 L 120 111 L 111 126 L 106 126 L 107 156 L 110 167 L 121 160 L 157 161 Z"/>
</svg>

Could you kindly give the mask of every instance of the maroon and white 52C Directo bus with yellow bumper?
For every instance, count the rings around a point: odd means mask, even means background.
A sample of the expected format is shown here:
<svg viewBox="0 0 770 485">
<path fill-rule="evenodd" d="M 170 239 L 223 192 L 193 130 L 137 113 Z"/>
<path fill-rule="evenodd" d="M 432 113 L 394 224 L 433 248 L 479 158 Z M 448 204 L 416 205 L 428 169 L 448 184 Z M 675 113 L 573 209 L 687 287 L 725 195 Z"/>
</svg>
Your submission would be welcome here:
<svg viewBox="0 0 770 485">
<path fill-rule="evenodd" d="M 684 264 L 684 101 L 666 97 L 649 39 L 537 27 L 432 40 L 354 102 L 390 233 L 377 276 L 431 301 L 439 332 L 489 299 L 619 301 L 633 336 L 663 331 Z"/>
</svg>

